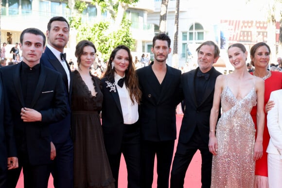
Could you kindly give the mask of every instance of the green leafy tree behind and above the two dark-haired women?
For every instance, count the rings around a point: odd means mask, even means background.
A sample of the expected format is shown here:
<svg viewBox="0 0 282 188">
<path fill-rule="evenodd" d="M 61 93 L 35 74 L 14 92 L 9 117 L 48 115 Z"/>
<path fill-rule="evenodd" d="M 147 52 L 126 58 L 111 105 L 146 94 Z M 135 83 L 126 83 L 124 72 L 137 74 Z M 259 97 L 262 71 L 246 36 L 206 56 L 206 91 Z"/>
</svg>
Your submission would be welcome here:
<svg viewBox="0 0 282 188">
<path fill-rule="evenodd" d="M 131 21 L 126 19 L 125 11 L 129 4 L 138 1 L 92 0 L 91 4 L 100 9 L 102 13 L 107 11 L 111 15 L 112 22 L 101 20 L 89 25 L 89 23 L 82 24 L 81 22 L 81 13 L 87 8 L 87 4 L 82 0 L 74 0 L 75 11 L 72 11 L 70 26 L 77 30 L 77 41 L 89 40 L 93 42 L 104 59 L 108 59 L 111 51 L 121 44 L 132 50 L 135 47 L 135 41 L 130 32 Z"/>
</svg>

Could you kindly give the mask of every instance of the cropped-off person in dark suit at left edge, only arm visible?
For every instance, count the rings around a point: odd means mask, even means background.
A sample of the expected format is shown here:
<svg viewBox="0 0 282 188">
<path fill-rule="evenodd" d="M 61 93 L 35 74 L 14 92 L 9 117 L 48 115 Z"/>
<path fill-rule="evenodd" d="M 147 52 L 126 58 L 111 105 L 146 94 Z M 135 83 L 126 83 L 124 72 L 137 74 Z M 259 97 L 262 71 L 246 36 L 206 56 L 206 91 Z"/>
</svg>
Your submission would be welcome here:
<svg viewBox="0 0 282 188">
<path fill-rule="evenodd" d="M 18 168 L 18 157 L 16 156 L 13 122 L 0 74 L 0 188 L 7 188 L 7 170 Z"/>
</svg>

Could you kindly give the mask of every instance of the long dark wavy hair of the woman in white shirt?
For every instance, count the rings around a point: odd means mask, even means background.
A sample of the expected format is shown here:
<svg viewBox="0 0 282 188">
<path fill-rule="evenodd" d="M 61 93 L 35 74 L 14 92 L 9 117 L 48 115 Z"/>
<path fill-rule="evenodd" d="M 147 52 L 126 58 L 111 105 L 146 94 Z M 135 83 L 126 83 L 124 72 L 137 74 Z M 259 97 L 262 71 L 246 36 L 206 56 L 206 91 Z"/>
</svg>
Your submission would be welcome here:
<svg viewBox="0 0 282 188">
<path fill-rule="evenodd" d="M 128 68 L 125 70 L 124 84 L 128 88 L 130 100 L 132 101 L 132 103 L 134 103 L 134 100 L 136 100 L 136 102 L 140 104 L 141 90 L 139 88 L 138 77 L 135 73 L 135 69 L 134 69 L 134 65 L 132 61 L 132 55 L 127 46 L 119 45 L 111 52 L 111 55 L 108 61 L 108 65 L 107 65 L 107 69 L 106 69 L 106 72 L 103 78 L 107 78 L 108 80 L 114 79 L 115 68 L 112 69 L 111 65 L 116 56 L 117 51 L 121 49 L 127 51 L 128 56 L 129 56 L 129 65 L 128 65 Z"/>
</svg>

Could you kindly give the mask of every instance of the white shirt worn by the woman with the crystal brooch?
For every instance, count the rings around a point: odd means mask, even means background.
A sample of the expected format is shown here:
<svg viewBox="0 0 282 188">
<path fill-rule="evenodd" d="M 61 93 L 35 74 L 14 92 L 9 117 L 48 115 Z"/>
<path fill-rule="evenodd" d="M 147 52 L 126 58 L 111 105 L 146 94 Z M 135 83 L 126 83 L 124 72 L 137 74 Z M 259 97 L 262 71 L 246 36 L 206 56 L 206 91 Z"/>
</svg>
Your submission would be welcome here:
<svg viewBox="0 0 282 188">
<path fill-rule="evenodd" d="M 118 85 L 118 81 L 122 77 L 115 73 L 115 85 L 118 90 L 121 106 L 122 106 L 122 112 L 123 112 L 123 123 L 124 124 L 133 124 L 136 123 L 139 119 L 138 114 L 138 103 L 136 100 L 134 100 L 134 103 L 130 100 L 129 91 L 127 87 L 125 86 L 125 82 L 123 84 L 123 87 L 120 87 Z"/>
</svg>

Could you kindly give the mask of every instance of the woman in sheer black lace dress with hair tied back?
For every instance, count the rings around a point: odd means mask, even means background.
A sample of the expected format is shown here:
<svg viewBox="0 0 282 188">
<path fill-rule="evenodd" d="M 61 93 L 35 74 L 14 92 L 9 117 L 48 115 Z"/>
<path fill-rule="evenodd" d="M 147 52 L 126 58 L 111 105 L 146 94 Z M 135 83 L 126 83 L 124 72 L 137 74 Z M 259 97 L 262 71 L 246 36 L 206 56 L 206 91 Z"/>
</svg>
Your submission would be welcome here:
<svg viewBox="0 0 282 188">
<path fill-rule="evenodd" d="M 100 80 L 90 74 L 96 48 L 88 40 L 75 50 L 78 68 L 72 72 L 72 133 L 74 137 L 74 188 L 114 188 L 99 112 L 103 94 Z"/>
</svg>

